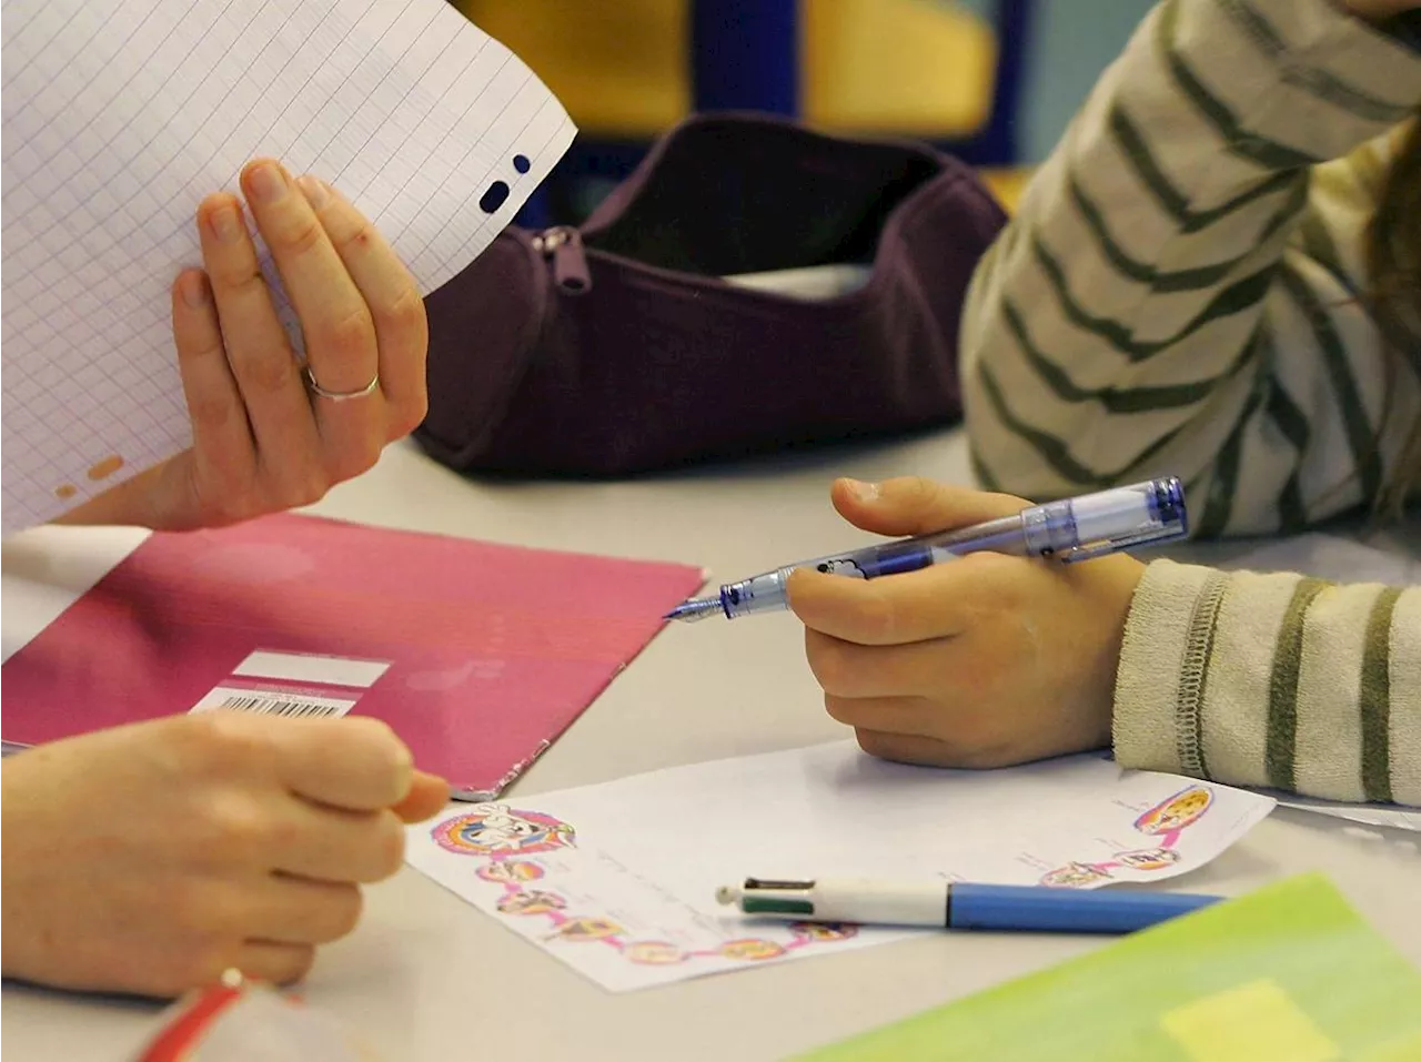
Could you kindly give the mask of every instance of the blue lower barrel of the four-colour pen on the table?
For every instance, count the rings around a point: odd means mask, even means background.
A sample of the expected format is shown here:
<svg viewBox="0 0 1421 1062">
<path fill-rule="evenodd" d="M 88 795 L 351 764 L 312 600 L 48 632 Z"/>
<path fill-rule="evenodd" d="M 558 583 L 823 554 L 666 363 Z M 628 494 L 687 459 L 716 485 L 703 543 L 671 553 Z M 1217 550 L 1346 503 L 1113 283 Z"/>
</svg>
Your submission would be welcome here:
<svg viewBox="0 0 1421 1062">
<path fill-rule="evenodd" d="M 1019 933 L 1134 933 L 1206 907 L 1218 899 L 1030 885 L 953 885 L 948 899 L 948 926 Z"/>
</svg>

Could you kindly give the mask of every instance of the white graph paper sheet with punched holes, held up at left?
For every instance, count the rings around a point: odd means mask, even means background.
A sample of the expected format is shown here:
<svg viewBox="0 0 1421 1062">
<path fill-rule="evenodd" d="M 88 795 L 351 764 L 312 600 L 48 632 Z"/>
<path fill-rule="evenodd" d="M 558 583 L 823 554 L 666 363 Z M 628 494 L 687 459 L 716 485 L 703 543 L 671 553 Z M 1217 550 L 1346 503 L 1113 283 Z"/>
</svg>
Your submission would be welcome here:
<svg viewBox="0 0 1421 1062">
<path fill-rule="evenodd" d="M 252 158 L 335 185 L 428 292 L 574 135 L 445 0 L 3 0 L 0 119 L 0 532 L 189 444 L 169 288 Z"/>
</svg>

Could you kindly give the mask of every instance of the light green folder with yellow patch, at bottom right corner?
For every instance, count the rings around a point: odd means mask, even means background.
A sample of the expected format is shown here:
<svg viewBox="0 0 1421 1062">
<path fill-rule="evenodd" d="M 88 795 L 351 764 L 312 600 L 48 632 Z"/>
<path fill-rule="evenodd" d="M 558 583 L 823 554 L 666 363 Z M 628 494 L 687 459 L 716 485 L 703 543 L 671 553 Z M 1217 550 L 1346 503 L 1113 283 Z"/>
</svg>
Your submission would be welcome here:
<svg viewBox="0 0 1421 1062">
<path fill-rule="evenodd" d="M 1320 875 L 801 1062 L 1414 1062 L 1421 974 Z"/>
</svg>

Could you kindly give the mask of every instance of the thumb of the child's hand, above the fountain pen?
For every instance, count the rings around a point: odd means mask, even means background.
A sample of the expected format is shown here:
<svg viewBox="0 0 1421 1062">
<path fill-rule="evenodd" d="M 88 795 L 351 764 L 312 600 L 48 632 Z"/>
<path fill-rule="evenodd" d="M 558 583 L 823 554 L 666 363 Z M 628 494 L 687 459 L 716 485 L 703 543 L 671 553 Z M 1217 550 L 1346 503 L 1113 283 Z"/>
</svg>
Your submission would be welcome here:
<svg viewBox="0 0 1421 1062">
<path fill-rule="evenodd" d="M 971 527 L 985 520 L 1016 515 L 1030 504 L 1010 494 L 988 494 L 921 476 L 884 483 L 836 480 L 830 497 L 838 514 L 854 527 L 894 537 Z"/>
</svg>

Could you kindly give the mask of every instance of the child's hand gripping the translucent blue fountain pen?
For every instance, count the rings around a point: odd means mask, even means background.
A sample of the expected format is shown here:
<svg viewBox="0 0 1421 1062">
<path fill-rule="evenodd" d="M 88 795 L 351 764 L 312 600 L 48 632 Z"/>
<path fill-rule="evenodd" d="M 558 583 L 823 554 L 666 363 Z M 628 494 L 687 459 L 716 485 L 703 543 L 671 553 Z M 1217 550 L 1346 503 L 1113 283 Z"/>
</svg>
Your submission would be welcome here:
<svg viewBox="0 0 1421 1062">
<path fill-rule="evenodd" d="M 882 535 L 1015 515 L 1027 503 L 921 478 L 840 480 L 834 507 Z M 790 603 L 828 714 L 864 751 L 1005 767 L 1110 743 L 1130 601 L 1144 565 L 972 554 L 871 581 L 796 572 Z"/>
</svg>

